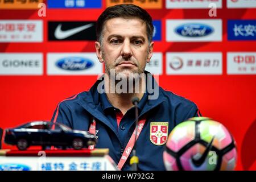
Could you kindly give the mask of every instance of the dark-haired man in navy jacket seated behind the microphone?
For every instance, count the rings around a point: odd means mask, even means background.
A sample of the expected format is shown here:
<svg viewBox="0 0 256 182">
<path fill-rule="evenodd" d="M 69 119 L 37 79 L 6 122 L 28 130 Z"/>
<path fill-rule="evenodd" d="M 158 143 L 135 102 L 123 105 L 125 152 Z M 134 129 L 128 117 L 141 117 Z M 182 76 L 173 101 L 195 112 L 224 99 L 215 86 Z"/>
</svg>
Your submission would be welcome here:
<svg viewBox="0 0 256 182">
<path fill-rule="evenodd" d="M 60 102 L 52 118 L 52 122 L 96 134 L 96 148 L 109 148 L 122 170 L 131 169 L 134 97 L 139 100 L 136 149 L 140 170 L 164 170 L 162 155 L 168 134 L 178 123 L 199 115 L 193 102 L 163 90 L 144 71 L 152 56 L 153 30 L 151 16 L 141 7 L 106 9 L 97 20 L 95 43 L 106 73 L 88 92 Z"/>
</svg>

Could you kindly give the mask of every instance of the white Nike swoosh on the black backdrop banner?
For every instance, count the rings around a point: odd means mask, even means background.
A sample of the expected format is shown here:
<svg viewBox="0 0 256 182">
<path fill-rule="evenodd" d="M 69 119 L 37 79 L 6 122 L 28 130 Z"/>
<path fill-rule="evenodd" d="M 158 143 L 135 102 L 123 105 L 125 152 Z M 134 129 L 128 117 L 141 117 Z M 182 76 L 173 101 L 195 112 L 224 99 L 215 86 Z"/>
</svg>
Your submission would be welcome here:
<svg viewBox="0 0 256 182">
<path fill-rule="evenodd" d="M 59 24 L 54 32 L 54 36 L 56 39 L 68 38 L 69 36 L 72 36 L 74 34 L 77 34 L 78 32 L 81 32 L 87 28 L 92 27 L 93 23 L 85 24 L 84 26 L 72 28 L 70 30 L 65 30 L 65 31 L 61 30 L 61 26 L 62 26 L 62 24 Z"/>
</svg>

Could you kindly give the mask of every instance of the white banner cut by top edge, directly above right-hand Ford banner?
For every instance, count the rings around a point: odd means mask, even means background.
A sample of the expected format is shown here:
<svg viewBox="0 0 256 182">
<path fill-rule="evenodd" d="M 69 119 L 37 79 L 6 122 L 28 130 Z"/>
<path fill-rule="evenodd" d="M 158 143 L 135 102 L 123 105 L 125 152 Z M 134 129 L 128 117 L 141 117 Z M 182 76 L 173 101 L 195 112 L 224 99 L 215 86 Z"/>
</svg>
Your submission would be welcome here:
<svg viewBox="0 0 256 182">
<path fill-rule="evenodd" d="M 221 8 L 222 0 L 166 0 L 166 9 L 208 9 L 213 6 Z"/>
</svg>

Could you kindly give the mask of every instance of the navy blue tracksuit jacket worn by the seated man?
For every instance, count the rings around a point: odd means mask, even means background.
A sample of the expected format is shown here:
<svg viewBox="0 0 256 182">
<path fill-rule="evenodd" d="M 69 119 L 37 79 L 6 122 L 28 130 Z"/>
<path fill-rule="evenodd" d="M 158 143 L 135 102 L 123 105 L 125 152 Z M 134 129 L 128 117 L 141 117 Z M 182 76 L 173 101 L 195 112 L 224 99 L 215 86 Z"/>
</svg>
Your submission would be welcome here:
<svg viewBox="0 0 256 182">
<path fill-rule="evenodd" d="M 147 79 L 151 79 L 154 86 L 158 86 L 151 74 Z M 53 114 L 52 122 L 56 117 L 55 122 L 63 123 L 75 130 L 89 131 L 90 123 L 94 118 L 98 137 L 96 148 L 109 148 L 110 157 L 118 164 L 135 129 L 135 108 L 129 109 L 117 125 L 115 114 L 120 111 L 109 103 L 105 93 L 97 92 L 99 83 L 100 80 L 96 81 L 88 92 L 61 101 Z M 170 134 L 177 124 L 199 116 L 200 112 L 193 102 L 163 90 L 160 86 L 157 100 L 148 100 L 148 95 L 149 93 L 146 92 L 138 105 L 139 119 L 146 116 L 146 123 L 136 143 L 138 169 L 165 170 L 163 163 L 165 144 L 152 142 L 150 123 L 167 122 L 168 134 Z M 131 169 L 129 162 L 130 158 L 126 160 L 122 170 Z"/>
</svg>

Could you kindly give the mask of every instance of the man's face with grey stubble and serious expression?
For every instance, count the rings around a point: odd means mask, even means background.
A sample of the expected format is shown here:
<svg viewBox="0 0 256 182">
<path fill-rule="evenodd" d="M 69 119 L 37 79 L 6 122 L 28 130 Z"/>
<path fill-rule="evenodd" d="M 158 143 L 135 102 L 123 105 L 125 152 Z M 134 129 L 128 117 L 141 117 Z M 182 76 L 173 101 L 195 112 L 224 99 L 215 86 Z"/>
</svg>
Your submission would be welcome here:
<svg viewBox="0 0 256 182">
<path fill-rule="evenodd" d="M 105 22 L 102 42 L 96 42 L 98 59 L 106 73 L 143 73 L 150 61 L 154 42 L 148 43 L 146 23 L 141 19 L 112 18 Z"/>
</svg>

